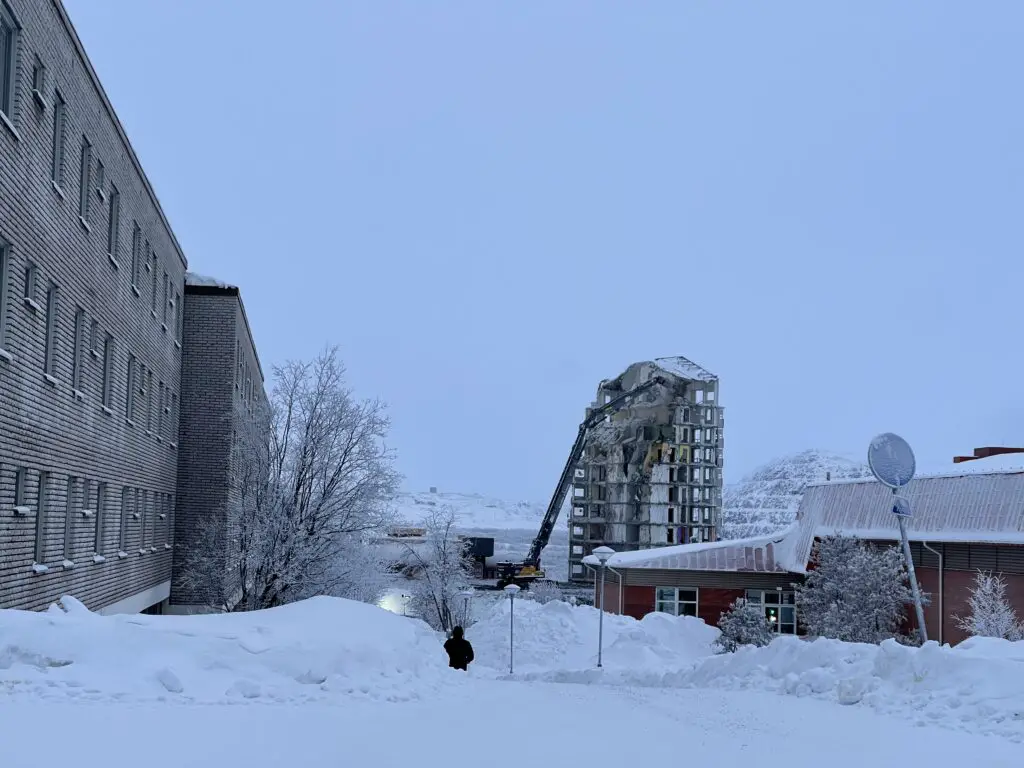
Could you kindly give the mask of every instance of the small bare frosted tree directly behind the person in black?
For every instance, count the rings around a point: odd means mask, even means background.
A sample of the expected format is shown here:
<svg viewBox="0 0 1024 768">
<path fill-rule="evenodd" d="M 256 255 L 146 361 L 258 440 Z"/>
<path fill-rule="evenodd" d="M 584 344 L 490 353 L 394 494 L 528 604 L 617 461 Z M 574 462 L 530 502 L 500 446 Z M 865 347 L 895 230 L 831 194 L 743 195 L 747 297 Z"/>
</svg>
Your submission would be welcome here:
<svg viewBox="0 0 1024 768">
<path fill-rule="evenodd" d="M 451 632 L 464 620 L 459 593 L 469 587 L 473 578 L 469 545 L 457 536 L 455 524 L 452 508 L 433 508 L 423 521 L 425 547 L 406 545 L 406 559 L 416 572 L 412 607 L 418 616 L 442 632 Z"/>
</svg>

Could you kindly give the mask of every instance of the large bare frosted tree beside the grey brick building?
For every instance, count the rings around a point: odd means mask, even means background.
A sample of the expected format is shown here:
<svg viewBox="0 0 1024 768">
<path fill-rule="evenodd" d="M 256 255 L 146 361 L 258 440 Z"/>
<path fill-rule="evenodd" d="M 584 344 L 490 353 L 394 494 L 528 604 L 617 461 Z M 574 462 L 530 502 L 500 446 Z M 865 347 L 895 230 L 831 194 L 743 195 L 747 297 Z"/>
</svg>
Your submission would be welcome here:
<svg viewBox="0 0 1024 768">
<path fill-rule="evenodd" d="M 390 521 L 399 476 L 384 407 L 356 400 L 344 374 L 328 348 L 275 368 L 265 403 L 239 406 L 231 486 L 177 574 L 210 606 L 370 601 L 382 591 L 385 567 L 368 542 Z"/>
</svg>

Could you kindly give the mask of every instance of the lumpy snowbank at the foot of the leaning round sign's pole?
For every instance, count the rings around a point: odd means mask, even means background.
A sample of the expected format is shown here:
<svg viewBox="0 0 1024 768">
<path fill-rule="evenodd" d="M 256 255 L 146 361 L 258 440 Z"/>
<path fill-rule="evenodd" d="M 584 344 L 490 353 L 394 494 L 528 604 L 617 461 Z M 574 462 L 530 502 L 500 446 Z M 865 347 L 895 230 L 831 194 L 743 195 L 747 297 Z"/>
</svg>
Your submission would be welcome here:
<svg viewBox="0 0 1024 768">
<path fill-rule="evenodd" d="M 1024 740 L 1024 642 L 975 638 L 922 648 L 780 637 L 715 656 L 667 687 L 769 690 L 862 705 L 919 725 Z"/>
</svg>

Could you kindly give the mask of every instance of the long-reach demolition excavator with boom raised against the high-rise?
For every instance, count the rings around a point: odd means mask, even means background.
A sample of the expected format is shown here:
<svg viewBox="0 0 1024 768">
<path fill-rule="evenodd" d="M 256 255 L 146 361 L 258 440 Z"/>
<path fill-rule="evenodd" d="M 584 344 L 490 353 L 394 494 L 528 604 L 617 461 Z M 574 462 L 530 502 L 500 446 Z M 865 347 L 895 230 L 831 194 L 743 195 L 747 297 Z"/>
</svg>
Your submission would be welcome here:
<svg viewBox="0 0 1024 768">
<path fill-rule="evenodd" d="M 630 400 L 657 385 L 663 387 L 672 386 L 664 377 L 653 376 L 643 384 L 635 386 L 630 391 L 623 392 L 604 404 L 595 408 L 583 420 L 583 423 L 580 425 L 580 431 L 577 433 L 575 442 L 572 443 L 572 451 L 569 452 L 569 458 L 565 461 L 565 467 L 562 469 L 562 476 L 558 478 L 558 485 L 555 487 L 555 493 L 548 503 L 548 510 L 541 521 L 541 529 L 537 532 L 537 537 L 529 547 L 529 553 L 521 562 L 506 561 L 498 563 L 499 589 L 509 584 L 528 588 L 532 582 L 544 579 L 544 570 L 541 568 L 541 552 L 548 546 L 548 541 L 551 539 L 551 531 L 555 529 L 555 523 L 558 522 L 558 514 L 561 512 L 562 505 L 565 503 L 565 495 L 572 483 L 572 470 L 575 469 L 580 458 L 583 456 L 583 451 L 587 445 L 588 433 L 604 421 L 606 417 L 625 408 Z"/>
</svg>

